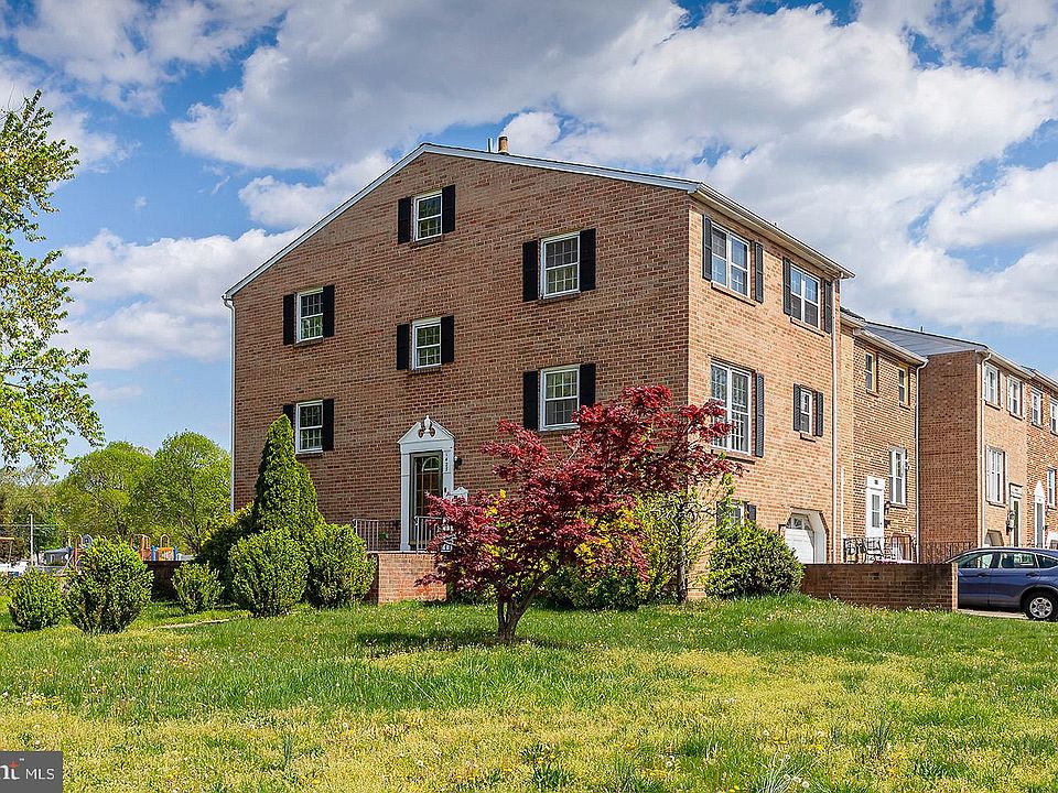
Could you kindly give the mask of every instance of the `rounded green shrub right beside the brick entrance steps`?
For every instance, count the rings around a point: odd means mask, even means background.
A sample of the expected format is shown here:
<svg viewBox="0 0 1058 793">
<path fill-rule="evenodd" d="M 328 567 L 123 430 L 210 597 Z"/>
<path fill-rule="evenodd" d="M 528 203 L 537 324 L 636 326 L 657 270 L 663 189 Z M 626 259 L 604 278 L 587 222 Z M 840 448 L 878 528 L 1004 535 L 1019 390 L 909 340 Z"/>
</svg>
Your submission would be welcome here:
<svg viewBox="0 0 1058 793">
<path fill-rule="evenodd" d="M 375 578 L 376 561 L 348 524 L 326 523 L 305 541 L 309 582 L 305 599 L 317 608 L 348 606 L 363 598 Z"/>
</svg>

